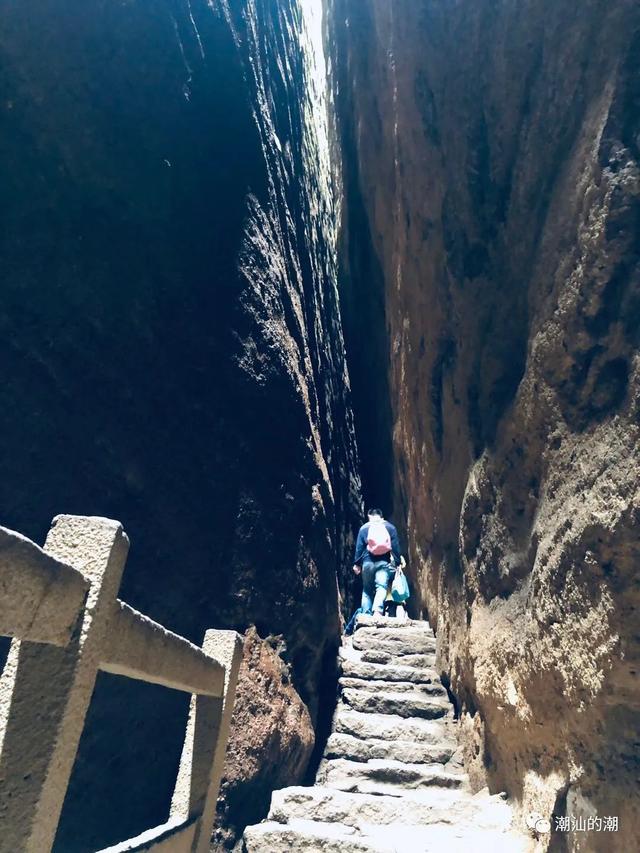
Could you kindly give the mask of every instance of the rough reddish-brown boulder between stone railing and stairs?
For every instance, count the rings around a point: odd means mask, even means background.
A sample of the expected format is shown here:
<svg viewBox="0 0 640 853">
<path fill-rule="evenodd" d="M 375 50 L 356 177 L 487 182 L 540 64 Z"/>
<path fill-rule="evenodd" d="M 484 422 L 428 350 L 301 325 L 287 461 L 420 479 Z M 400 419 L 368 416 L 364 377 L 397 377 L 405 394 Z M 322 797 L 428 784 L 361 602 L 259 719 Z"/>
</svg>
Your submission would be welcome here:
<svg viewBox="0 0 640 853">
<path fill-rule="evenodd" d="M 311 717 L 288 668 L 255 629 L 248 631 L 221 790 L 222 826 L 214 833 L 218 849 L 245 823 L 264 817 L 273 790 L 302 778 L 313 745 Z"/>
</svg>

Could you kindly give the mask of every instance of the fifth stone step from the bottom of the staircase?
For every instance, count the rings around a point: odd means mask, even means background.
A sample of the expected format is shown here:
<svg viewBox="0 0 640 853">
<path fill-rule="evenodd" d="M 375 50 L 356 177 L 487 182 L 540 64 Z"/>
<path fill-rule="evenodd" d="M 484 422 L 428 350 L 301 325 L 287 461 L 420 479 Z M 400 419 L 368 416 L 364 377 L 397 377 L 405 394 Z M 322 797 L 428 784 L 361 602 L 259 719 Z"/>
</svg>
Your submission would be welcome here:
<svg viewBox="0 0 640 853">
<path fill-rule="evenodd" d="M 346 705 L 339 705 L 334 720 L 339 734 L 368 740 L 411 740 L 418 744 L 436 746 L 456 744 L 457 723 L 451 718 L 425 720 L 416 717 L 405 719 L 395 714 L 362 714 Z"/>
</svg>

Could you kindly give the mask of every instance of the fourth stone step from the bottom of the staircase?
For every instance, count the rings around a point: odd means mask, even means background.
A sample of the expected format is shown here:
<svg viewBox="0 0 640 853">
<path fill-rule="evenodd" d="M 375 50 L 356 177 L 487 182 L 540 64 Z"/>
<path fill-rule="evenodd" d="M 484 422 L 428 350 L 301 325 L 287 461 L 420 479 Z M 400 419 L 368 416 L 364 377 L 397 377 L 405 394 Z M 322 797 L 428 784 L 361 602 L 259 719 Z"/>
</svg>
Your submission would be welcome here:
<svg viewBox="0 0 640 853">
<path fill-rule="evenodd" d="M 353 735 L 334 732 L 327 741 L 324 757 L 349 758 L 352 761 L 390 758 L 394 761 L 410 761 L 413 764 L 446 764 L 456 748 L 457 745 L 452 741 L 424 744 L 414 740 L 363 740 Z"/>
</svg>

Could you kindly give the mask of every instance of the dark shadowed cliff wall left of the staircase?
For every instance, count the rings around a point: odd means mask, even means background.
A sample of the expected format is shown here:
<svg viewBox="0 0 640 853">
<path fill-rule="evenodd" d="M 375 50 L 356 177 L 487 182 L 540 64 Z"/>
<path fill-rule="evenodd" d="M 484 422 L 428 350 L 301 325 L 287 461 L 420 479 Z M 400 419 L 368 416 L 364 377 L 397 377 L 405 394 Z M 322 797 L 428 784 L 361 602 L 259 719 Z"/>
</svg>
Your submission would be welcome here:
<svg viewBox="0 0 640 853">
<path fill-rule="evenodd" d="M 195 642 L 282 635 L 305 744 L 359 512 L 314 13 L 0 13 L 2 523 L 42 541 L 60 512 L 118 518 L 131 605 Z M 160 693 L 101 677 L 59 849 L 165 819 L 186 705 Z M 234 770 L 238 825 L 243 796 L 256 819 Z"/>
</svg>

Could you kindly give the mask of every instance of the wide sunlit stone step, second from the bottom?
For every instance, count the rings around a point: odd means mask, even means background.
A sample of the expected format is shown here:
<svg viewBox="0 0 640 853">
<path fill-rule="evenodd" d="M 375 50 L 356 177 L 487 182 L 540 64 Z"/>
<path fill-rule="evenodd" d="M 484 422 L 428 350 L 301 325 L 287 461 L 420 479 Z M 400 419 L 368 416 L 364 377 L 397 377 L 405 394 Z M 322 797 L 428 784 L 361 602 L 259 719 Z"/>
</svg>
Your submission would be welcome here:
<svg viewBox="0 0 640 853">
<path fill-rule="evenodd" d="M 499 796 L 469 794 L 459 789 L 428 788 L 402 797 L 352 794 L 335 788 L 292 787 L 274 791 L 269 820 L 287 823 L 296 818 L 359 827 L 369 824 L 466 823 L 478 830 L 507 831 L 511 809 Z M 411 848 L 406 848 L 410 850 Z"/>
</svg>

